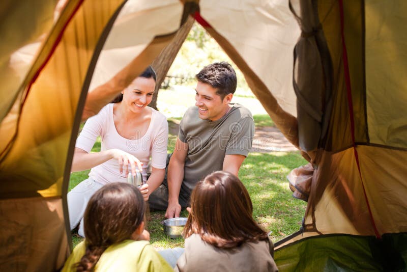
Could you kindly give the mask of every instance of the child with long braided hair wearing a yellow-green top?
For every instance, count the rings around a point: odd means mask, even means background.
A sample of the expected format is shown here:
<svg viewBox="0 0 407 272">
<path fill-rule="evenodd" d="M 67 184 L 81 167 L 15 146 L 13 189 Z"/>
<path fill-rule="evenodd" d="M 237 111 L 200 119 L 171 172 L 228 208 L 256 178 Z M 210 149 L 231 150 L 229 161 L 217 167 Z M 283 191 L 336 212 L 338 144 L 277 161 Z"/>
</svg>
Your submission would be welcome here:
<svg viewBox="0 0 407 272">
<path fill-rule="evenodd" d="M 85 210 L 86 238 L 62 271 L 173 271 L 149 243 L 145 209 L 132 184 L 115 182 L 100 188 Z"/>
</svg>

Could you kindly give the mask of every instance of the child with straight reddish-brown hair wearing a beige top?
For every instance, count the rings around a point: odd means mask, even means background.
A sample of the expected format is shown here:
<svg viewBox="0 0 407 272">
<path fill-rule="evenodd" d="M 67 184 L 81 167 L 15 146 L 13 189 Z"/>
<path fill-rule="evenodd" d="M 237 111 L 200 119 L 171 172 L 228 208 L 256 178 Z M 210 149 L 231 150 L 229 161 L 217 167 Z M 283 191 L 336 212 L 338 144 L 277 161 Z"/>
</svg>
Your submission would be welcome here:
<svg viewBox="0 0 407 272">
<path fill-rule="evenodd" d="M 199 181 L 175 270 L 277 271 L 273 242 L 252 212 L 249 193 L 236 176 L 217 171 Z"/>
</svg>

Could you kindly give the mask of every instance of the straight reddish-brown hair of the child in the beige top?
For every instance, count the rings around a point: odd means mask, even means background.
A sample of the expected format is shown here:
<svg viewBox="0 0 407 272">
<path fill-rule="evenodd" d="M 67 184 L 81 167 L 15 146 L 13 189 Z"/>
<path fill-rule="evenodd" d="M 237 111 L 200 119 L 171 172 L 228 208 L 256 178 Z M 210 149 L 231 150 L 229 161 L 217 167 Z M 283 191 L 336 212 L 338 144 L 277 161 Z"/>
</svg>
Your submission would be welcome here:
<svg viewBox="0 0 407 272">
<path fill-rule="evenodd" d="M 185 238 L 198 234 L 212 246 L 231 249 L 247 241 L 268 240 L 268 233 L 253 220 L 253 206 L 236 176 L 216 171 L 192 191 Z"/>
</svg>

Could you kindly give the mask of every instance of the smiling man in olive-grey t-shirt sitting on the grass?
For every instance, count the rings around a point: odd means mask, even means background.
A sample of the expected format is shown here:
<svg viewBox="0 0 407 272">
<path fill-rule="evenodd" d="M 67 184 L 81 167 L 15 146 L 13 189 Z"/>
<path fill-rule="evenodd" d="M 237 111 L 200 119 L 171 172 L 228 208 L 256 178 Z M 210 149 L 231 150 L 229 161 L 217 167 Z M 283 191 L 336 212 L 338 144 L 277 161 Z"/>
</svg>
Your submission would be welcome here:
<svg viewBox="0 0 407 272">
<path fill-rule="evenodd" d="M 250 111 L 230 103 L 237 86 L 231 65 L 213 63 L 195 77 L 196 103 L 181 120 L 167 182 L 164 180 L 149 198 L 150 207 L 166 209 L 167 218 L 180 215 L 195 184 L 208 174 L 223 170 L 237 176 L 253 140 Z"/>
</svg>

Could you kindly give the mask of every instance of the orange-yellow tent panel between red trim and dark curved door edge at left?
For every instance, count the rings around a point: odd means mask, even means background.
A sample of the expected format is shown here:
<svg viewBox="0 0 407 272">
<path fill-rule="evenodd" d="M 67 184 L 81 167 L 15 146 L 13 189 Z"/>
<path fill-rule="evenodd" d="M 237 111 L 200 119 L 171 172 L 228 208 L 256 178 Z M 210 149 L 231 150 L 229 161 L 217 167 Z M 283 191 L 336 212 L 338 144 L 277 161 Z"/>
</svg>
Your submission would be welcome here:
<svg viewBox="0 0 407 272">
<path fill-rule="evenodd" d="M 73 117 L 86 75 L 83 67 L 89 65 L 109 14 L 115 11 L 114 6 L 108 8 L 96 2 L 76 4 L 64 10 L 73 16 L 61 22 L 67 23 L 64 32 L 60 34 L 62 29 L 57 23 L 48 38 L 51 44 L 42 48 L 33 64 L 33 69 L 41 69 L 41 73 L 37 75 L 36 70 L 31 70 L 25 79 L 29 89 L 23 100 L 23 111 L 14 117 L 18 121 L 17 131 L 4 131 L 16 133 L 16 138 L 12 149 L 2 158 L 2 198 L 7 198 L 8 193 L 36 192 L 62 182 Z M 85 21 L 84 13 L 90 18 L 106 19 Z M 62 14 L 61 18 L 64 17 L 69 18 Z M 48 58 L 49 53 L 52 55 Z M 32 80 L 35 82 L 31 83 Z M 49 195 L 60 196 L 61 187 L 50 187 L 53 192 Z"/>
</svg>

